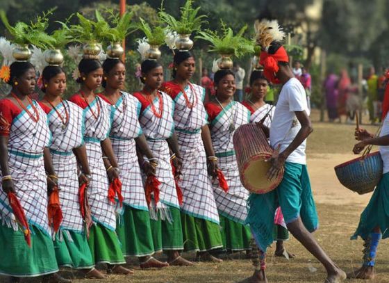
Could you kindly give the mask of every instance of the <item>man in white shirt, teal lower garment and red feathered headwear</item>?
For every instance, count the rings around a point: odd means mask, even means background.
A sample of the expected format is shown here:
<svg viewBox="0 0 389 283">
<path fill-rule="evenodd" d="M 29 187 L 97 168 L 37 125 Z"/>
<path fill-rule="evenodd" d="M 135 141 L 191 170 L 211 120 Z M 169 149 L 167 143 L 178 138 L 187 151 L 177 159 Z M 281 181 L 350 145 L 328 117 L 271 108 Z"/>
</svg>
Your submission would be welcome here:
<svg viewBox="0 0 389 283">
<path fill-rule="evenodd" d="M 336 266 L 311 235 L 318 227 L 318 219 L 306 168 L 306 138 L 313 129 L 304 88 L 293 75 L 288 54 L 279 43 L 283 32 L 276 21 L 258 22 L 256 30 L 257 42 L 263 49 L 260 64 L 264 67 L 264 74 L 272 83 L 283 85 L 270 127 L 270 144 L 276 150 L 268 161 L 272 166 L 267 177 L 273 179 L 282 167 L 285 172 L 274 191 L 249 197 L 246 222 L 260 249 L 260 260 L 259 264 L 254 264 L 254 275 L 244 282 L 267 282 L 265 255 L 273 240 L 274 211 L 279 206 L 292 235 L 326 268 L 325 282 L 342 282 L 346 278 L 345 272 Z"/>
</svg>

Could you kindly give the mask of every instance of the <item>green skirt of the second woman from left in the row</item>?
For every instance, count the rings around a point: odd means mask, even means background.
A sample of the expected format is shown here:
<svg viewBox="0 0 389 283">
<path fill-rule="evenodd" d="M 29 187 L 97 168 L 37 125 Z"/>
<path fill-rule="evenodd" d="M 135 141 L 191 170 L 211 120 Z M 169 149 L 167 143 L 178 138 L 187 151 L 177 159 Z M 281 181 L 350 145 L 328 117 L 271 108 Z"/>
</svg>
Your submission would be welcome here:
<svg viewBox="0 0 389 283">
<path fill-rule="evenodd" d="M 54 249 L 58 266 L 67 266 L 76 269 L 89 269 L 94 267 L 92 254 L 89 249 L 86 235 L 62 230 L 56 234 Z"/>
</svg>

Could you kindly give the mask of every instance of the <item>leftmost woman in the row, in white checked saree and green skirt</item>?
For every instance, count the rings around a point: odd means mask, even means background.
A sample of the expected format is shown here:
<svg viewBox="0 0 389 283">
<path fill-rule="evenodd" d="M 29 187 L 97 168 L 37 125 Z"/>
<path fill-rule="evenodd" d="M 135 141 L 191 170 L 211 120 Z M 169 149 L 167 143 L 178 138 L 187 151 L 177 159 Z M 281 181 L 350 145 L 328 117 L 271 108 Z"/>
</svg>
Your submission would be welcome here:
<svg viewBox="0 0 389 283">
<path fill-rule="evenodd" d="M 56 273 L 58 265 L 48 223 L 49 178 L 44 167 L 50 131 L 46 114 L 28 97 L 35 88 L 33 65 L 10 65 L 8 83 L 13 86 L 11 93 L 0 100 L 0 274 L 13 276 L 11 282 L 19 282 L 18 277 Z M 31 230 L 31 247 L 24 240 L 25 231 L 17 223 L 17 213 L 10 207 L 9 192 L 15 193 L 22 204 Z"/>
</svg>

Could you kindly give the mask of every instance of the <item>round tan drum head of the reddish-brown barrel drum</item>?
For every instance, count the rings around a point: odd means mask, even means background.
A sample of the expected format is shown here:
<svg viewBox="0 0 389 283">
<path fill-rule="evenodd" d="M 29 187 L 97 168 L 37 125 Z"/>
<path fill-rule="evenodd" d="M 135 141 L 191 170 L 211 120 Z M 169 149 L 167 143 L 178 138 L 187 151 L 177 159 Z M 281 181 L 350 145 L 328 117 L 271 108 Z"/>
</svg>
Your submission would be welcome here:
<svg viewBox="0 0 389 283">
<path fill-rule="evenodd" d="M 270 155 L 263 154 L 253 156 L 247 161 L 240 175 L 243 186 L 251 193 L 268 193 L 279 185 L 283 176 L 283 170 L 274 180 L 268 180 L 266 177 L 267 171 L 270 169 L 271 163 L 265 162 L 270 158 Z"/>
</svg>

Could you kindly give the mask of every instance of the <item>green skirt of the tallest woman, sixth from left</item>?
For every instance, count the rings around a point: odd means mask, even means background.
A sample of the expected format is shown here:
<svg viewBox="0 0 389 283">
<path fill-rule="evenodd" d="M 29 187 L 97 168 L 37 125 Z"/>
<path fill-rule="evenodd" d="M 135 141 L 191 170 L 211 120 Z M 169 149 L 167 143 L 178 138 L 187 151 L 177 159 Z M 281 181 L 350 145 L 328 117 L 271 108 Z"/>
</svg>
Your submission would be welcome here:
<svg viewBox="0 0 389 283">
<path fill-rule="evenodd" d="M 206 252 L 223 248 L 220 226 L 201 218 L 181 213 L 185 251 Z"/>
</svg>

